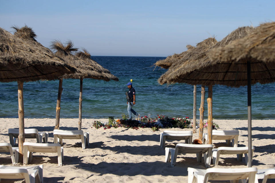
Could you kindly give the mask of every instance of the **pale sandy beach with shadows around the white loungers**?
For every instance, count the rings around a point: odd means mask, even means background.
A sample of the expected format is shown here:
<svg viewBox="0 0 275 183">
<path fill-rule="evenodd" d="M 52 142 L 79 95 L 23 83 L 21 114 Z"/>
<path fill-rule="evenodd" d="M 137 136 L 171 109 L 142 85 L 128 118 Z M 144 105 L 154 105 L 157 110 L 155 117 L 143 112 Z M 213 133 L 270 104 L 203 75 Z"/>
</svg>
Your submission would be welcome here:
<svg viewBox="0 0 275 183">
<path fill-rule="evenodd" d="M 43 164 L 44 182 L 187 182 L 188 167 L 203 168 L 195 154 L 178 155 L 176 165 L 165 162 L 165 150 L 160 148 L 160 133 L 149 128 L 133 130 L 128 128 L 92 127 L 95 119 L 82 119 L 82 130 L 90 133 L 90 144 L 82 150 L 80 140 L 64 140 L 63 166 L 58 166 L 57 155 L 34 153 L 30 165 Z M 107 122 L 108 119 L 96 119 Z M 0 118 L 0 143 L 9 142 L 8 129 L 18 128 L 18 119 Z M 247 146 L 247 120 L 213 120 L 218 130 L 239 130 L 239 147 Z M 61 130 L 77 130 L 78 119 L 60 119 Z M 25 128 L 36 128 L 48 132 L 48 143 L 53 143 L 55 119 L 25 118 Z M 167 130 L 167 129 L 166 129 Z M 191 130 L 191 129 L 169 129 Z M 206 132 L 207 130 L 205 130 Z M 252 120 L 252 146 L 255 147 L 252 166 L 258 169 L 273 168 L 275 165 L 275 120 Z M 193 134 L 198 138 L 199 131 Z M 25 142 L 36 142 L 26 139 Z M 179 141 L 178 141 L 179 142 Z M 173 147 L 175 142 L 167 142 Z M 226 143 L 213 140 L 215 147 Z M 244 161 L 244 158 L 243 158 Z M 0 154 L 0 164 L 11 164 L 8 154 Z M 19 164 L 22 166 L 22 164 Z M 211 167 L 214 165 L 211 164 Z M 221 155 L 219 168 L 245 168 L 236 155 Z M 2 180 L 1 182 L 8 182 Z M 24 181 L 16 181 L 24 182 Z"/>
</svg>

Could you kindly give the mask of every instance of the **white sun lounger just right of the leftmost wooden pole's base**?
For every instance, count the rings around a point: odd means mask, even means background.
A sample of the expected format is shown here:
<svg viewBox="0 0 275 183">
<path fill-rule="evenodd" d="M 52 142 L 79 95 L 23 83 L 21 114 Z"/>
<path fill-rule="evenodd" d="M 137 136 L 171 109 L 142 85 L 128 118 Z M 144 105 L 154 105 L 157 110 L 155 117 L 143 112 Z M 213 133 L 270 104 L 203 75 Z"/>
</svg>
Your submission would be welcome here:
<svg viewBox="0 0 275 183">
<path fill-rule="evenodd" d="M 23 164 L 27 165 L 28 160 L 32 161 L 33 152 L 44 152 L 44 153 L 57 153 L 58 165 L 62 166 L 63 147 L 60 144 L 40 144 L 32 142 L 24 142 L 23 144 Z"/>
</svg>

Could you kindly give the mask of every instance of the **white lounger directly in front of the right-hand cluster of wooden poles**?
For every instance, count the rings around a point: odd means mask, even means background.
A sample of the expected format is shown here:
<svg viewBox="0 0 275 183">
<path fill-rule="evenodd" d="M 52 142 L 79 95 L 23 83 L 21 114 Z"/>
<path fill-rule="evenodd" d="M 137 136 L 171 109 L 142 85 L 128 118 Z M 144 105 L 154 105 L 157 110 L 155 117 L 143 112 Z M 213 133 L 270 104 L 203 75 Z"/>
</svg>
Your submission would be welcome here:
<svg viewBox="0 0 275 183">
<path fill-rule="evenodd" d="M 165 162 L 171 161 L 173 167 L 176 163 L 178 154 L 196 154 L 197 161 L 201 162 L 202 155 L 204 157 L 205 167 L 210 166 L 211 154 L 213 145 L 212 144 L 177 144 L 176 148 L 165 148 Z M 170 159 L 171 156 L 171 159 Z"/>
</svg>

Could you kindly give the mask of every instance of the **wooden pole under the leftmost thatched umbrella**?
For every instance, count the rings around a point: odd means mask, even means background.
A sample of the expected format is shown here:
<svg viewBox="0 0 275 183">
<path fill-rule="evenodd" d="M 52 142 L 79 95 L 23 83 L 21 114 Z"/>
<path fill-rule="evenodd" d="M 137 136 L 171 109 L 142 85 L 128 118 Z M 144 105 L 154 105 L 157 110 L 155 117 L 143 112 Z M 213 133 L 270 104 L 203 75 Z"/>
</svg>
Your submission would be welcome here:
<svg viewBox="0 0 275 183">
<path fill-rule="evenodd" d="M 23 82 L 17 81 L 17 87 L 18 87 L 18 120 L 19 120 L 19 135 L 18 135 L 19 162 L 23 162 L 23 143 L 25 142 Z"/>
</svg>

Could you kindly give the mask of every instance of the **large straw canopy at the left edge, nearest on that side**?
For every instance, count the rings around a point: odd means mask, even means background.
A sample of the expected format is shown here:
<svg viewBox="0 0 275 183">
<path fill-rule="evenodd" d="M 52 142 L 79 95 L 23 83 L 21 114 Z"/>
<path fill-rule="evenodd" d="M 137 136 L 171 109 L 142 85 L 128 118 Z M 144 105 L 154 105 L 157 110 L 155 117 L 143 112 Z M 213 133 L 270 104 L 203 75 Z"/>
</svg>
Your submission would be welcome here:
<svg viewBox="0 0 275 183">
<path fill-rule="evenodd" d="M 56 79 L 76 69 L 49 49 L 30 44 L 0 28 L 0 81 Z"/>
</svg>

